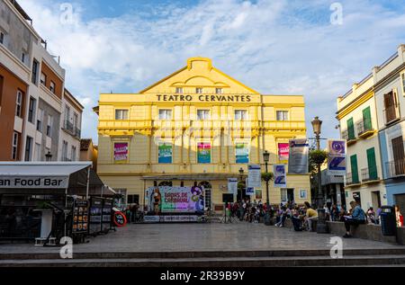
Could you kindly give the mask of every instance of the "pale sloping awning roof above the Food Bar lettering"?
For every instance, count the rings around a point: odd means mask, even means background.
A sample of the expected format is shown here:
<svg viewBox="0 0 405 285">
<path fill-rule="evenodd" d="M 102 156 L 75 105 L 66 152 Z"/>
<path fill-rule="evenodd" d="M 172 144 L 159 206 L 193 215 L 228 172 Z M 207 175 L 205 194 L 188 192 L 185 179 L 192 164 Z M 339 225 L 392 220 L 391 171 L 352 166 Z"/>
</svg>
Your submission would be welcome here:
<svg viewBox="0 0 405 285">
<path fill-rule="evenodd" d="M 0 162 L 0 176 L 55 176 L 74 174 L 92 162 Z"/>
</svg>

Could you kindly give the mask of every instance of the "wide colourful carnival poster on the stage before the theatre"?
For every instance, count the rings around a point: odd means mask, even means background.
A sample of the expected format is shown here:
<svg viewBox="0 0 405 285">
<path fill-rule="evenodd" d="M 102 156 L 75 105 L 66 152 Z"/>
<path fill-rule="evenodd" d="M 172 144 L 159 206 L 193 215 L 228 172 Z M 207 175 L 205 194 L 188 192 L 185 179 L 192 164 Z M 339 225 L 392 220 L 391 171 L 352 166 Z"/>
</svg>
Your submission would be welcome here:
<svg viewBox="0 0 405 285">
<path fill-rule="evenodd" d="M 204 212 L 204 191 L 201 187 L 149 187 L 148 211 L 158 213 Z"/>
</svg>

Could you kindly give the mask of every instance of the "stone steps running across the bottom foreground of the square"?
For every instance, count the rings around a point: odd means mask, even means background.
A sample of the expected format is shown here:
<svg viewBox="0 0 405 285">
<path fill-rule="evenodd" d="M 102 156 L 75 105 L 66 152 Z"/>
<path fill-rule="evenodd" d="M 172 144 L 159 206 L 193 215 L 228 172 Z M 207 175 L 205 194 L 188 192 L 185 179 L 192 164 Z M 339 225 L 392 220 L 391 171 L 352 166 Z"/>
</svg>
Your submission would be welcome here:
<svg viewBox="0 0 405 285">
<path fill-rule="evenodd" d="M 284 266 L 405 266 L 405 248 L 347 249 L 342 259 L 329 250 L 196 251 L 76 253 L 60 259 L 48 254 L 0 254 L 0 267 L 284 267 Z"/>
</svg>

